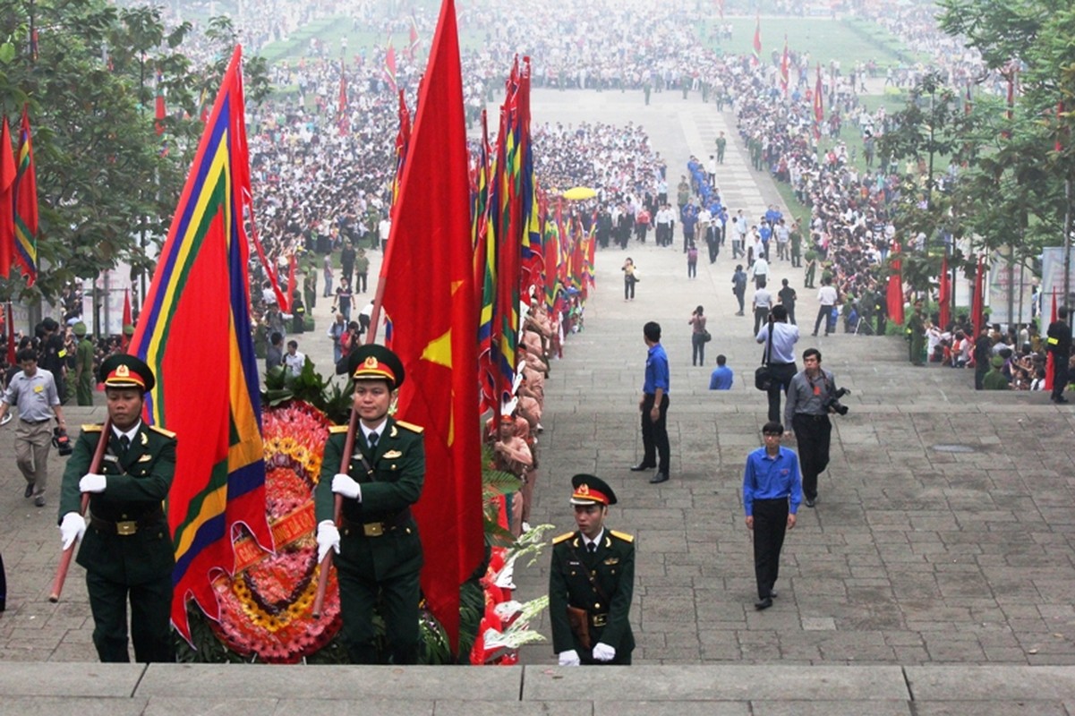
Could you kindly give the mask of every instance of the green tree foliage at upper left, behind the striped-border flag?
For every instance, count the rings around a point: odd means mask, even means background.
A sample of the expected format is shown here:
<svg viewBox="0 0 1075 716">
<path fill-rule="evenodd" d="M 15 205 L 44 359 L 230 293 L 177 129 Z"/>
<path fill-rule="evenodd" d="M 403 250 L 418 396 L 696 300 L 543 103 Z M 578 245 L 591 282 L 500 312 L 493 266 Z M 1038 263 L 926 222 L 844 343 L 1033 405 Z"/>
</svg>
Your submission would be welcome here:
<svg viewBox="0 0 1075 716">
<path fill-rule="evenodd" d="M 29 109 L 42 269 L 30 291 L 17 276 L 0 280 L 0 298 L 52 298 L 68 281 L 94 278 L 119 261 L 134 273 L 152 271 L 156 252 L 143 250 L 142 237 L 153 243 L 167 234 L 201 133 L 199 102 L 212 102 L 223 74 L 192 66 L 182 52 L 190 32 L 188 24 L 166 29 L 148 5 L 0 0 L 0 111 L 17 124 L 24 104 Z M 233 38 L 211 40 L 227 58 Z M 255 70 L 247 87 L 259 101 L 268 91 L 263 62 Z M 154 126 L 158 73 L 168 109 L 162 137 Z"/>
</svg>

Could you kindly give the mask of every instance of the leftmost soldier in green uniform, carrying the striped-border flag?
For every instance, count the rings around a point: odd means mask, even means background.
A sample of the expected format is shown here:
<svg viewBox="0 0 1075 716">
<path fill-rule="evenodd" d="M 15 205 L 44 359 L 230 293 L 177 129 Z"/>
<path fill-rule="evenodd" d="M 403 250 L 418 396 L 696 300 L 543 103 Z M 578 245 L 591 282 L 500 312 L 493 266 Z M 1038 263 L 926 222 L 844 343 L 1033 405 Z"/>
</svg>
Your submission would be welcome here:
<svg viewBox="0 0 1075 716">
<path fill-rule="evenodd" d="M 89 472 L 102 439 L 100 425 L 82 434 L 63 471 L 60 538 L 63 548 L 81 539 L 77 562 L 86 568 L 94 645 L 101 661 L 129 661 L 127 601 L 135 661 L 174 661 L 169 621 L 175 559 L 163 500 L 175 474 L 175 433 L 142 421 L 153 371 L 134 356 L 117 354 L 100 380 L 112 421 L 99 472 Z M 89 493 L 89 517 L 80 501 Z"/>
</svg>

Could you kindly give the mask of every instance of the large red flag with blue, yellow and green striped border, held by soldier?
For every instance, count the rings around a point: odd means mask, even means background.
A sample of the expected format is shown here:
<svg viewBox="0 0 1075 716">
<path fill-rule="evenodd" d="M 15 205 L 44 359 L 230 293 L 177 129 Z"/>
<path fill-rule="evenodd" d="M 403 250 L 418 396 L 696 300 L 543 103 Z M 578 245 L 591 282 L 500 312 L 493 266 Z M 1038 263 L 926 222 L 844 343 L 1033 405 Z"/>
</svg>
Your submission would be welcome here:
<svg viewBox="0 0 1075 716">
<path fill-rule="evenodd" d="M 234 571 L 232 535 L 250 533 L 273 549 L 246 273 L 250 177 L 241 58 L 236 46 L 130 346 L 157 375 L 148 421 L 178 436 L 168 497 L 172 622 L 188 641 L 188 598 L 219 617 L 211 579 Z"/>
</svg>

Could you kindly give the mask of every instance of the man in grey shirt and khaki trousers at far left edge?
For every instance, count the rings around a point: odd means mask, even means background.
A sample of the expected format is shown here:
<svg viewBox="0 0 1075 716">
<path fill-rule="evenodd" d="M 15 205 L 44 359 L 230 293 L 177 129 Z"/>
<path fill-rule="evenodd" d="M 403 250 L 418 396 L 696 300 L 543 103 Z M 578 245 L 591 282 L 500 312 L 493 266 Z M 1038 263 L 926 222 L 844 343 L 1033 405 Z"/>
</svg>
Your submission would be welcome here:
<svg viewBox="0 0 1075 716">
<path fill-rule="evenodd" d="M 26 477 L 23 497 L 33 497 L 33 504 L 45 506 L 45 483 L 48 479 L 48 449 L 53 444 L 53 416 L 67 430 L 60 398 L 53 374 L 38 368 L 33 348 L 23 348 L 15 356 L 23 368 L 11 380 L 0 397 L 0 420 L 12 405 L 18 405 L 15 426 L 15 464 Z M 2 424 L 0 424 L 2 425 Z"/>
</svg>

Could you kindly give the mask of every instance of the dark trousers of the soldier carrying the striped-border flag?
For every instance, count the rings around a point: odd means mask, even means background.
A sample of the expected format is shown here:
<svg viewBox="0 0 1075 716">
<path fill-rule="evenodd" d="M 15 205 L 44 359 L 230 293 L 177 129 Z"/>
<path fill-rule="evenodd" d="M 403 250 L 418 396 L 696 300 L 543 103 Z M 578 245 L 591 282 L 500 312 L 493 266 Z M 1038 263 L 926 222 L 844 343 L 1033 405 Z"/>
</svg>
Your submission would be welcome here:
<svg viewBox="0 0 1075 716">
<path fill-rule="evenodd" d="M 137 585 L 86 572 L 94 646 L 103 662 L 127 662 L 127 600 L 131 603 L 131 642 L 139 663 L 175 661 L 172 649 L 172 576 Z"/>
</svg>

